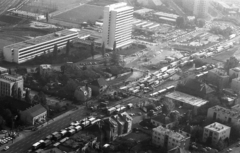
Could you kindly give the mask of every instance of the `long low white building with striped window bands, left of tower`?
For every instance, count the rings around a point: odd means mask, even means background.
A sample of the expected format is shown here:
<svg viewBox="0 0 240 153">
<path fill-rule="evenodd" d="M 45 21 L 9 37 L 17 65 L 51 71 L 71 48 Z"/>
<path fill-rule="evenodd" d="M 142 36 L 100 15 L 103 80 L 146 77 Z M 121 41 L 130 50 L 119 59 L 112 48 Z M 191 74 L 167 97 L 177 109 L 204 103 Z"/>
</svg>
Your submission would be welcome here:
<svg viewBox="0 0 240 153">
<path fill-rule="evenodd" d="M 71 41 L 77 37 L 77 31 L 65 29 L 56 33 L 5 46 L 3 48 L 4 60 L 14 63 L 23 63 L 36 56 L 53 51 L 54 45 L 57 45 L 58 48 L 62 48 L 66 46 L 68 40 Z"/>
</svg>

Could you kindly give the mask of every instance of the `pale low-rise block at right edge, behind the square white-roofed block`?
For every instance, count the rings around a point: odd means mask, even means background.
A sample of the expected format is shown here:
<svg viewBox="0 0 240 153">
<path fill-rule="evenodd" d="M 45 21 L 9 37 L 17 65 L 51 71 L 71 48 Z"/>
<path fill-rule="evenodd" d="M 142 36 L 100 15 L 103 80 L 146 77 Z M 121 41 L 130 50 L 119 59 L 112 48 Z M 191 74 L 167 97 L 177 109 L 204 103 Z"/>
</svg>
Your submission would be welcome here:
<svg viewBox="0 0 240 153">
<path fill-rule="evenodd" d="M 240 123 L 239 112 L 234 109 L 227 109 L 218 105 L 208 109 L 207 117 L 227 123 Z"/>
</svg>

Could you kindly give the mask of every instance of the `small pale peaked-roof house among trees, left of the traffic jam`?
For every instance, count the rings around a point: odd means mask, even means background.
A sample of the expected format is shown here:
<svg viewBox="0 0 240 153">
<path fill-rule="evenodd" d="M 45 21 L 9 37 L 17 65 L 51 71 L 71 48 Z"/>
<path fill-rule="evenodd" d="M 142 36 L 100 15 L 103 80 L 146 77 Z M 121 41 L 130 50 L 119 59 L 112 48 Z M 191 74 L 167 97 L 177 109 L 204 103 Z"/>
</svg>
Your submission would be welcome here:
<svg viewBox="0 0 240 153">
<path fill-rule="evenodd" d="M 74 97 L 79 102 L 84 102 L 92 97 L 92 89 L 88 86 L 79 86 L 74 92 Z"/>
</svg>

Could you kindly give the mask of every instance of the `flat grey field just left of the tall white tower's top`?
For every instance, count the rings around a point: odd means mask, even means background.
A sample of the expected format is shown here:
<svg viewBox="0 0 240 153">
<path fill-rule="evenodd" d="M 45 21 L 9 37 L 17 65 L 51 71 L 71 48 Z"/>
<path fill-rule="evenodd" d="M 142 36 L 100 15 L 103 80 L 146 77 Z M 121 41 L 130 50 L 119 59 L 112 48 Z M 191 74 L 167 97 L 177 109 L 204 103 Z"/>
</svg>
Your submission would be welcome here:
<svg viewBox="0 0 240 153">
<path fill-rule="evenodd" d="M 88 13 L 86 13 L 88 12 Z M 82 5 L 62 14 L 54 17 L 55 20 L 71 22 L 71 23 L 83 23 L 83 22 L 95 22 L 99 18 L 103 17 L 103 7 L 94 5 Z"/>
</svg>

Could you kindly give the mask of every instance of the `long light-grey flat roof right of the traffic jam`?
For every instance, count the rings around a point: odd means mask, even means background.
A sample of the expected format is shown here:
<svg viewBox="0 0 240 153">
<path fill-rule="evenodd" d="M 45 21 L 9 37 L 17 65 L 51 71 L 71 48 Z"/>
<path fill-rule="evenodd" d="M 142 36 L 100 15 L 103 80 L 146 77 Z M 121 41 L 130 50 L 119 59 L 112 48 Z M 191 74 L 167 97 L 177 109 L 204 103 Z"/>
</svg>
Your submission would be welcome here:
<svg viewBox="0 0 240 153">
<path fill-rule="evenodd" d="M 179 91 L 169 93 L 166 95 L 166 97 L 197 107 L 201 107 L 208 102 L 207 100 L 197 98 Z"/>
</svg>

